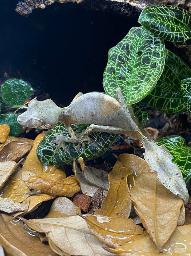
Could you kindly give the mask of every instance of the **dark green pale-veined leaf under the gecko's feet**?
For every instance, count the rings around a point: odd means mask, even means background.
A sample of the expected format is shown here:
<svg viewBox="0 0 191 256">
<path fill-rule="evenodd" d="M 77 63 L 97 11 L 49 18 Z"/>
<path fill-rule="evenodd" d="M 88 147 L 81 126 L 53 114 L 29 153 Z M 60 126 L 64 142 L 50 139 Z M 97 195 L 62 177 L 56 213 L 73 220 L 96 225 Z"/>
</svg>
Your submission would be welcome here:
<svg viewBox="0 0 191 256">
<path fill-rule="evenodd" d="M 72 125 L 74 131 L 81 132 L 86 129 L 88 125 Z M 73 160 L 78 157 L 82 157 L 84 161 L 91 160 L 101 156 L 106 150 L 108 150 L 111 145 L 116 140 L 116 134 L 110 133 L 97 133 L 92 132 L 90 137 L 97 141 L 97 146 L 93 146 L 90 143 L 86 143 L 86 148 L 81 148 L 79 151 L 76 150 L 76 144 L 66 143 L 68 151 L 63 151 L 60 148 L 58 153 L 55 153 L 55 148 L 57 144 L 51 144 L 51 141 L 56 139 L 55 133 L 61 134 L 65 131 L 64 136 L 70 136 L 65 125 L 63 123 L 58 123 L 51 130 L 48 131 L 46 136 L 41 140 L 37 148 L 37 156 L 39 161 L 44 165 L 66 165 L 73 163 Z"/>
</svg>

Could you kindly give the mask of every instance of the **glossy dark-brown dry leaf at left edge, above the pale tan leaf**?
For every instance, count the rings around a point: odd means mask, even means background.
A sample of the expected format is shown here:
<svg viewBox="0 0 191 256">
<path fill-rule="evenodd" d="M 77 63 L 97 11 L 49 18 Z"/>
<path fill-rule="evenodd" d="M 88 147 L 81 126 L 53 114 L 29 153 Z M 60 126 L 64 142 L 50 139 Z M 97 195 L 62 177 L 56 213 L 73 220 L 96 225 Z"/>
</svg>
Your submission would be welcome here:
<svg viewBox="0 0 191 256">
<path fill-rule="evenodd" d="M 14 140 L 8 143 L 0 151 L 0 162 L 20 160 L 25 154 L 29 152 L 31 145 L 25 141 Z"/>
</svg>

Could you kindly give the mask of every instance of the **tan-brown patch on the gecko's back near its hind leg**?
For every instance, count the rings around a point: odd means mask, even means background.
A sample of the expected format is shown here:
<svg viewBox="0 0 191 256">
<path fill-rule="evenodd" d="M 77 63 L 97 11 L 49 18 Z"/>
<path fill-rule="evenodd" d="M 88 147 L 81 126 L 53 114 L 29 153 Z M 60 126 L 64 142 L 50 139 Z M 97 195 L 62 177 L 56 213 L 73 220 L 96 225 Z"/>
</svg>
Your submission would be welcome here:
<svg viewBox="0 0 191 256">
<path fill-rule="evenodd" d="M 113 112 L 119 110 L 121 108 L 120 103 L 114 104 L 113 100 L 108 100 L 107 97 L 104 97 L 103 103 L 100 107 L 100 115 L 101 116 L 108 116 L 110 114 L 113 114 Z"/>
</svg>

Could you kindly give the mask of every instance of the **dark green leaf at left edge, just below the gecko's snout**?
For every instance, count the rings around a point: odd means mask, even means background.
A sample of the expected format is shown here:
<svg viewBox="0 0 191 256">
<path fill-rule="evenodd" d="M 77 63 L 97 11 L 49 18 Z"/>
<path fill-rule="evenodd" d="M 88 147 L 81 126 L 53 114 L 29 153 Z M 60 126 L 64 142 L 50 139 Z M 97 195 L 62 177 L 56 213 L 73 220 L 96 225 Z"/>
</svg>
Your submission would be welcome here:
<svg viewBox="0 0 191 256">
<path fill-rule="evenodd" d="M 18 114 L 13 114 L 12 112 L 6 115 L 0 115 L 0 125 L 7 124 L 10 126 L 10 136 L 18 136 L 21 132 L 22 126 L 17 122 Z"/>
</svg>

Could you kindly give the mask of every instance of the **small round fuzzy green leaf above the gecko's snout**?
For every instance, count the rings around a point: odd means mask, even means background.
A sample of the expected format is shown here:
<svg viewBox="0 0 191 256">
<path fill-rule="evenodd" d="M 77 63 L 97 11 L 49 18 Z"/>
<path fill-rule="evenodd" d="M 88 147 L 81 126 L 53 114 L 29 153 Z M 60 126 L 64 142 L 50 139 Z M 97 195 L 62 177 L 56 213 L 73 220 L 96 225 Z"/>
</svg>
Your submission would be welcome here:
<svg viewBox="0 0 191 256">
<path fill-rule="evenodd" d="M 33 92 L 34 89 L 20 79 L 8 79 L 1 86 L 2 100 L 10 106 L 23 104 Z"/>
</svg>

